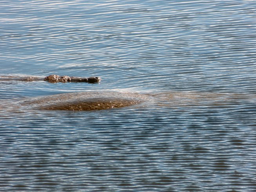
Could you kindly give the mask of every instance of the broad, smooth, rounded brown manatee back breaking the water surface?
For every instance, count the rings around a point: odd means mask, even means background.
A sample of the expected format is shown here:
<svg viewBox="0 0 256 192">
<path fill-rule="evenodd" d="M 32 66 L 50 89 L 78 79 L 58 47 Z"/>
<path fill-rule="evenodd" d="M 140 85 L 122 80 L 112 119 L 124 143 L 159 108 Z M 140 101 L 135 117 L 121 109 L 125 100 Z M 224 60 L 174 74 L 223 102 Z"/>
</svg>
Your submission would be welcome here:
<svg viewBox="0 0 256 192">
<path fill-rule="evenodd" d="M 131 92 L 74 92 L 29 98 L 18 104 L 35 110 L 102 110 L 127 107 L 149 100 Z"/>
</svg>

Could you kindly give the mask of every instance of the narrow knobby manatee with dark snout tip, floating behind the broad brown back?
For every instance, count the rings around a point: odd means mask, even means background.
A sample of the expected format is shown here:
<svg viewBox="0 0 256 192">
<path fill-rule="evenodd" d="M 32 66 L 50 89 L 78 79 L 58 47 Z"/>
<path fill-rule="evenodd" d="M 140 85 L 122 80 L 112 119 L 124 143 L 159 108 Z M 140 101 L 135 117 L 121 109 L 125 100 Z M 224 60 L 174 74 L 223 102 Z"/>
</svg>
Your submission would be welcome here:
<svg viewBox="0 0 256 192">
<path fill-rule="evenodd" d="M 100 82 L 100 77 L 70 77 L 70 76 L 59 76 L 59 75 L 49 75 L 47 77 L 41 78 L 36 76 L 0 76 L 0 81 L 24 81 L 24 82 L 33 82 L 33 81 L 47 81 L 49 83 L 66 83 L 66 82 L 87 82 L 87 83 L 98 83 Z"/>
</svg>

